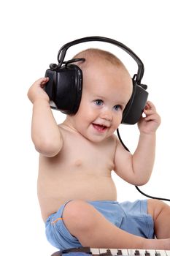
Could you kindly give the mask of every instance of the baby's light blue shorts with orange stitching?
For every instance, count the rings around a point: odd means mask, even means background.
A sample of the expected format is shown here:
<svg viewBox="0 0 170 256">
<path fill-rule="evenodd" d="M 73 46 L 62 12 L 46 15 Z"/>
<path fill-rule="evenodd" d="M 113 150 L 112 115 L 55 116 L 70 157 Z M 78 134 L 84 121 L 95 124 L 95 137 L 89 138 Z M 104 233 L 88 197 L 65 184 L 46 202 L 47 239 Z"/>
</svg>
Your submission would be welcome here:
<svg viewBox="0 0 170 256">
<path fill-rule="evenodd" d="M 68 203 L 68 202 L 67 202 Z M 136 236 L 154 238 L 154 224 L 147 214 L 147 200 L 125 201 L 118 203 L 112 200 L 88 201 L 96 210 L 113 225 Z M 45 222 L 47 240 L 58 249 L 80 247 L 80 241 L 64 225 L 62 215 L 64 204 L 58 211 L 51 214 Z"/>
</svg>

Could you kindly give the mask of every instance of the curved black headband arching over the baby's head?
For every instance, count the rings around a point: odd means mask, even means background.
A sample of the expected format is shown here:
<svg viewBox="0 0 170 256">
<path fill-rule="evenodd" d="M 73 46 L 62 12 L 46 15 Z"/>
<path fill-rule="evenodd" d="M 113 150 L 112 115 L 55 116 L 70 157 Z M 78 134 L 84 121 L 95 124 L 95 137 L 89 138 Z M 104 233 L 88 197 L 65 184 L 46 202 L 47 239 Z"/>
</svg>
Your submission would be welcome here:
<svg viewBox="0 0 170 256">
<path fill-rule="evenodd" d="M 74 40 L 72 42 L 68 42 L 65 45 L 61 47 L 61 49 L 58 51 L 58 68 L 60 68 L 63 64 L 63 60 L 66 56 L 66 51 L 73 45 L 80 44 L 82 42 L 90 42 L 90 41 L 99 41 L 99 42 L 109 42 L 112 45 L 117 45 L 117 47 L 122 48 L 125 50 L 126 53 L 128 53 L 138 64 L 138 71 L 136 74 L 136 83 L 140 84 L 142 77 L 144 75 L 144 64 L 142 63 L 141 59 L 139 59 L 138 56 L 127 46 L 123 45 L 122 42 L 118 42 L 114 39 L 110 39 L 107 37 L 82 37 L 80 39 Z"/>
</svg>

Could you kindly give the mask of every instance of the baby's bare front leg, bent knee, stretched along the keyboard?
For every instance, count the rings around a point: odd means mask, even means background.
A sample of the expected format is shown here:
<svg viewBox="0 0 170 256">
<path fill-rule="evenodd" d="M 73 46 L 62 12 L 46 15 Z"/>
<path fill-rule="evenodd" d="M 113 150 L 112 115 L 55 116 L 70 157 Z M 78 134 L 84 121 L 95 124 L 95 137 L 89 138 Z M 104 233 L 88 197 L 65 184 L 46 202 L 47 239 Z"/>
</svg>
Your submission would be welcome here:
<svg viewBox="0 0 170 256">
<path fill-rule="evenodd" d="M 73 200 L 63 210 L 63 222 L 82 246 L 96 248 L 170 249 L 170 239 L 146 239 L 120 230 L 93 206 Z"/>
</svg>

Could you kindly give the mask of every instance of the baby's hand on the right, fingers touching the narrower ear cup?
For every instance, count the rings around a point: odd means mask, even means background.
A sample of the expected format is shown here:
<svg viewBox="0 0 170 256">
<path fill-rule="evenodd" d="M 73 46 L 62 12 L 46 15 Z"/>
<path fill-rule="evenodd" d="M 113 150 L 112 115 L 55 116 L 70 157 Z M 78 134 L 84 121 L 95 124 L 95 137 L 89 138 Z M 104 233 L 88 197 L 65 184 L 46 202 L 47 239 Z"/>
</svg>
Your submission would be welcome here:
<svg viewBox="0 0 170 256">
<path fill-rule="evenodd" d="M 141 117 L 138 122 L 139 131 L 144 134 L 153 134 L 161 124 L 161 117 L 156 112 L 155 105 L 147 102 L 144 108 L 145 117 Z"/>
</svg>

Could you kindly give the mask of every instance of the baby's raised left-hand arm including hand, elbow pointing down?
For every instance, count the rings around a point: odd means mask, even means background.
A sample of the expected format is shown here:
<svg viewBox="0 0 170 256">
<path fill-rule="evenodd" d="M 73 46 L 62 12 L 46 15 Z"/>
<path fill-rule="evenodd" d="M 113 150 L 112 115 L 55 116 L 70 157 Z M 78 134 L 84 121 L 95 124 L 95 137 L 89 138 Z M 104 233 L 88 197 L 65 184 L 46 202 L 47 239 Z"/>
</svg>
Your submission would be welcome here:
<svg viewBox="0 0 170 256">
<path fill-rule="evenodd" d="M 47 81 L 48 78 L 40 78 L 28 90 L 28 98 L 33 103 L 31 136 L 39 153 L 54 157 L 61 150 L 63 140 L 50 109 L 50 99 L 43 89 Z"/>
</svg>

